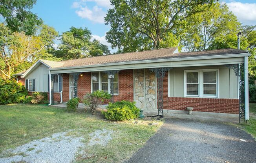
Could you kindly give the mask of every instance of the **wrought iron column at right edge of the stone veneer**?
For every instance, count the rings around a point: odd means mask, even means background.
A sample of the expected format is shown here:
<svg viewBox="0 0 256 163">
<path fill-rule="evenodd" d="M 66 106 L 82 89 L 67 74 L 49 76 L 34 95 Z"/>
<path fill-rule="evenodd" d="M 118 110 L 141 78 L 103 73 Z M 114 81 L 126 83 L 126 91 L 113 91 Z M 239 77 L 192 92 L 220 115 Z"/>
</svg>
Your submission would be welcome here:
<svg viewBox="0 0 256 163">
<path fill-rule="evenodd" d="M 158 116 L 159 112 L 163 113 L 163 78 L 165 77 L 165 73 L 170 70 L 170 68 L 152 68 L 149 69 L 152 72 L 155 72 L 155 76 L 157 77 L 157 109 L 158 109 Z"/>
</svg>

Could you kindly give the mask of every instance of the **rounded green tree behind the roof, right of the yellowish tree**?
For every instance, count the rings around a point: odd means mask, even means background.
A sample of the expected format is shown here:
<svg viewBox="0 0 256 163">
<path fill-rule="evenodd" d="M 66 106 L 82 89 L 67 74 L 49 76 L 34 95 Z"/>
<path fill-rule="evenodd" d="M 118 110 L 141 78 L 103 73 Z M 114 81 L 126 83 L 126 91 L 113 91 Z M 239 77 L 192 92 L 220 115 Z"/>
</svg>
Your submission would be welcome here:
<svg viewBox="0 0 256 163">
<path fill-rule="evenodd" d="M 71 27 L 70 31 L 64 32 L 60 38 L 59 51 L 55 54 L 64 59 L 78 59 L 88 57 L 90 49 L 91 31 Z"/>
</svg>

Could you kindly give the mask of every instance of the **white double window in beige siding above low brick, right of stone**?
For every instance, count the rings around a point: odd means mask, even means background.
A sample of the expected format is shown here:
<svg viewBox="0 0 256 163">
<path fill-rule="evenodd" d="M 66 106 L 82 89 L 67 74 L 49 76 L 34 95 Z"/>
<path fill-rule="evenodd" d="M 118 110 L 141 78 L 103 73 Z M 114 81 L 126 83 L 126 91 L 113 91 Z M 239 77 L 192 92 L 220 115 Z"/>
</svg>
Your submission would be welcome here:
<svg viewBox="0 0 256 163">
<path fill-rule="evenodd" d="M 218 97 L 218 69 L 184 72 L 185 96 Z"/>
</svg>

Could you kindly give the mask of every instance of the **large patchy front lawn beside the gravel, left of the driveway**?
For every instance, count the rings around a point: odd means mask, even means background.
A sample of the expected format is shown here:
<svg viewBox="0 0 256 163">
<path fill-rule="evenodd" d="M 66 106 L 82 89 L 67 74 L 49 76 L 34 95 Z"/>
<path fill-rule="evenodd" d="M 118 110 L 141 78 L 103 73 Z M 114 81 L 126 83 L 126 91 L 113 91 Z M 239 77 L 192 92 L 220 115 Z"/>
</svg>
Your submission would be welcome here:
<svg viewBox="0 0 256 163">
<path fill-rule="evenodd" d="M 150 125 L 156 122 L 158 125 Z M 155 119 L 115 122 L 104 120 L 101 114 L 93 116 L 84 111 L 67 112 L 65 109 L 45 105 L 0 105 L 0 153 L 53 133 L 73 129 L 68 134 L 83 136 L 88 143 L 89 134 L 97 129 L 113 130 L 108 145 L 94 145 L 81 149 L 91 158 L 77 162 L 121 162 L 128 159 L 160 128 L 163 121 Z"/>
</svg>

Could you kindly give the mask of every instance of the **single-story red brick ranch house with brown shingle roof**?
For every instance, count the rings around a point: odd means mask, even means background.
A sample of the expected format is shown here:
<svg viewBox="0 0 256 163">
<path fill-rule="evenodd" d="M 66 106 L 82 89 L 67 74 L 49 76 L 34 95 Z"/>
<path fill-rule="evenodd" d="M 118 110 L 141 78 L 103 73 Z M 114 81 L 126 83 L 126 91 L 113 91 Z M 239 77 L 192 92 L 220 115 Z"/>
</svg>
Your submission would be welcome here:
<svg viewBox="0 0 256 163">
<path fill-rule="evenodd" d="M 29 93 L 48 92 L 50 104 L 99 89 L 113 94 L 114 101 L 135 101 L 156 114 L 194 107 L 196 112 L 248 120 L 250 55 L 231 48 L 179 53 L 172 47 L 60 62 L 38 60 L 15 75 Z"/>
</svg>

